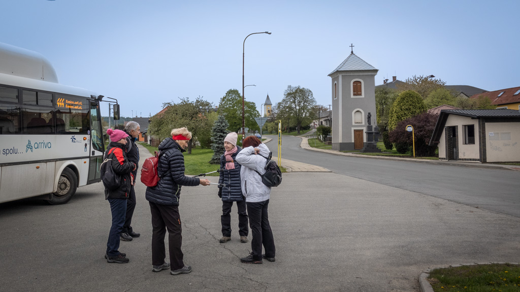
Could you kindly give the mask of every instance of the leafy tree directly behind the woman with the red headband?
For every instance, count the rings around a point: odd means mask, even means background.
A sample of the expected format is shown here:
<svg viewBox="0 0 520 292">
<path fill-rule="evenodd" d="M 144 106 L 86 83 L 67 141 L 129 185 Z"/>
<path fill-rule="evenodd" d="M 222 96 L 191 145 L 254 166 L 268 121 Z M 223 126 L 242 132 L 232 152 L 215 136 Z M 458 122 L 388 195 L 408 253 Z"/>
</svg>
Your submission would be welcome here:
<svg viewBox="0 0 520 292">
<path fill-rule="evenodd" d="M 165 102 L 163 108 L 167 108 L 161 116 L 152 117 L 150 120 L 150 133 L 159 137 L 160 140 L 169 137 L 172 129 L 186 127 L 192 134 L 191 140 L 188 142 L 188 154 L 191 154 L 191 148 L 194 141 L 197 141 L 199 135 L 209 132 L 211 124 L 206 116 L 201 113 L 200 109 L 211 108 L 211 102 L 198 97 L 195 101 L 189 98 L 181 98 L 180 102 Z"/>
</svg>

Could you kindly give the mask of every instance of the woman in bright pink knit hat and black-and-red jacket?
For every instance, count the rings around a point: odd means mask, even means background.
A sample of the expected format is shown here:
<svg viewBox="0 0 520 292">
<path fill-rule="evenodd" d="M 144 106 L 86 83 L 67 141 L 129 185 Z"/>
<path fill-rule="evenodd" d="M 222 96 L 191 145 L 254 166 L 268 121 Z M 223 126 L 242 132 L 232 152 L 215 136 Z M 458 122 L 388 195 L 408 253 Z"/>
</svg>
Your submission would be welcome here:
<svg viewBox="0 0 520 292">
<path fill-rule="evenodd" d="M 131 184 L 133 182 L 132 171 L 136 169 L 135 163 L 128 161 L 126 157 L 126 137 L 128 134 L 122 130 L 107 130 L 110 136 L 105 158 L 112 160 L 112 168 L 115 174 L 121 176 L 121 185 L 114 190 L 105 189 L 105 195 L 110 203 L 112 211 L 112 227 L 107 242 L 107 262 L 127 263 L 126 254 L 120 253 L 120 234 L 125 223 L 126 203 L 130 196 Z"/>
</svg>

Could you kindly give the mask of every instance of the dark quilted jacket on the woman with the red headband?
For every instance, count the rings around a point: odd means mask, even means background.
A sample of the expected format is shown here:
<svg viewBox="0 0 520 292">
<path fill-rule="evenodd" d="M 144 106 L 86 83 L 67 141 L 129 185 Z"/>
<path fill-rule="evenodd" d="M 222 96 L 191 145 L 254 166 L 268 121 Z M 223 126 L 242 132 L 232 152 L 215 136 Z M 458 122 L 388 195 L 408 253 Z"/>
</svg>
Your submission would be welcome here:
<svg viewBox="0 0 520 292">
<path fill-rule="evenodd" d="M 163 154 L 159 158 L 157 172 L 163 176 L 155 187 L 146 188 L 146 200 L 159 205 L 179 205 L 180 186 L 193 187 L 200 184 L 199 178 L 184 175 L 185 150 L 172 138 L 164 139 L 159 145 Z"/>
</svg>

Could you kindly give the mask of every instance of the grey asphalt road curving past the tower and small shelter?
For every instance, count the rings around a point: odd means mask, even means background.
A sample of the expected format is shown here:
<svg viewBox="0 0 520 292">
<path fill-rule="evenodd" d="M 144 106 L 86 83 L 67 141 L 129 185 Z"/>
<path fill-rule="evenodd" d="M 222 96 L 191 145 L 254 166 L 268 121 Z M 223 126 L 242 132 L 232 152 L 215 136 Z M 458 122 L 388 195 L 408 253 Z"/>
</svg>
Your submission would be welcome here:
<svg viewBox="0 0 520 292">
<path fill-rule="evenodd" d="M 266 145 L 277 153 L 276 136 Z M 318 165 L 336 174 L 444 198 L 520 217 L 520 171 L 389 161 L 304 150 L 301 138 L 282 137 L 282 158 Z"/>
</svg>

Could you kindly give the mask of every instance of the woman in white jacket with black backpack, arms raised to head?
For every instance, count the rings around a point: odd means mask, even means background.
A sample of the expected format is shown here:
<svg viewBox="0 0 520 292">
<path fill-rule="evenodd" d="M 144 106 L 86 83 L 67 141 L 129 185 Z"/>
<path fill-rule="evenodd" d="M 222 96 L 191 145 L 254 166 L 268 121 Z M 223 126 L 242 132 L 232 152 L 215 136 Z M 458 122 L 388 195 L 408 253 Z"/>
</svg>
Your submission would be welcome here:
<svg viewBox="0 0 520 292">
<path fill-rule="evenodd" d="M 267 215 L 271 188 L 262 182 L 262 178 L 256 172 L 265 173 L 264 167 L 267 162 L 265 157 L 268 157 L 270 151 L 255 136 L 245 138 L 242 147 L 242 151 L 237 154 L 236 161 L 242 165 L 240 168 L 242 193 L 245 196 L 253 239 L 251 240 L 251 253 L 245 258 L 241 258 L 240 261 L 262 263 L 262 258 L 275 261 L 275 240 Z M 262 245 L 265 254 L 262 254 Z"/>
</svg>

